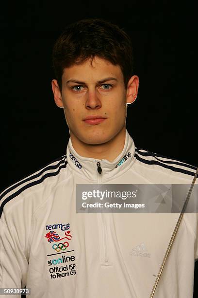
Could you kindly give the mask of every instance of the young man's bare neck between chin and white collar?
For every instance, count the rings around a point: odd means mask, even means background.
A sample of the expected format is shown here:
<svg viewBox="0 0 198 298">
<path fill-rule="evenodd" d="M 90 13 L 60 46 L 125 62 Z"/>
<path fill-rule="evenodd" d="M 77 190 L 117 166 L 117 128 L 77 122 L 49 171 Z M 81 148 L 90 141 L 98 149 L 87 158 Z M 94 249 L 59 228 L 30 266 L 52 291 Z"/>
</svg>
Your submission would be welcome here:
<svg viewBox="0 0 198 298">
<path fill-rule="evenodd" d="M 124 126 L 111 140 L 103 144 L 86 144 L 70 133 L 72 146 L 83 156 L 95 159 L 106 159 L 112 162 L 123 150 L 125 144 L 126 127 Z"/>
</svg>

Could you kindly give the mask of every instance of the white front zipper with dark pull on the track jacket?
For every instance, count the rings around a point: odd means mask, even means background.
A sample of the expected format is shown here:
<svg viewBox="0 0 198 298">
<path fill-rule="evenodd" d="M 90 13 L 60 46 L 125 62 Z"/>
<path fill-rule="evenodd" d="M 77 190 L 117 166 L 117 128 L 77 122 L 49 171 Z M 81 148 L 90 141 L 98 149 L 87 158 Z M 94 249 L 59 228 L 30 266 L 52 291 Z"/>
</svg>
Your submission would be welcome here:
<svg viewBox="0 0 198 298">
<path fill-rule="evenodd" d="M 102 173 L 102 168 L 101 168 L 101 163 L 99 161 L 96 160 L 97 163 L 97 171 L 98 171 L 98 184 L 102 184 L 102 177 L 101 177 L 101 173 Z M 100 216 L 100 213 L 99 213 Z M 104 214 L 103 212 L 101 212 L 101 222 L 102 222 L 102 227 L 103 227 L 103 233 L 102 233 L 102 237 L 103 237 L 103 244 L 104 244 L 104 263 L 103 265 L 111 265 L 112 263 L 109 263 L 108 261 L 108 253 L 107 253 L 107 227 L 106 227 L 106 221 L 104 218 Z"/>
</svg>

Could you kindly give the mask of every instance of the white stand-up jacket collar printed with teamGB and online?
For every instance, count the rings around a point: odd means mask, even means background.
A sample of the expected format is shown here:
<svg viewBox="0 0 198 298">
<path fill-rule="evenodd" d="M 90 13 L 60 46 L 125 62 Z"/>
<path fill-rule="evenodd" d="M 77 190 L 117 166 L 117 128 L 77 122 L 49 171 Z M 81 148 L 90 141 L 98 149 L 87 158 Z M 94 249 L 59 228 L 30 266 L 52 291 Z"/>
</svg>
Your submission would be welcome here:
<svg viewBox="0 0 198 298">
<path fill-rule="evenodd" d="M 82 157 L 73 148 L 71 138 L 69 138 L 66 149 L 69 167 L 74 170 L 77 175 L 86 177 L 94 183 L 104 183 L 104 181 L 112 180 L 115 176 L 117 177 L 125 172 L 132 166 L 134 162 L 134 154 L 134 142 L 127 130 L 125 134 L 124 148 L 113 162 L 109 162 L 106 159 L 99 160 L 90 157 Z M 98 172 L 98 162 L 102 169 L 101 174 Z"/>
</svg>

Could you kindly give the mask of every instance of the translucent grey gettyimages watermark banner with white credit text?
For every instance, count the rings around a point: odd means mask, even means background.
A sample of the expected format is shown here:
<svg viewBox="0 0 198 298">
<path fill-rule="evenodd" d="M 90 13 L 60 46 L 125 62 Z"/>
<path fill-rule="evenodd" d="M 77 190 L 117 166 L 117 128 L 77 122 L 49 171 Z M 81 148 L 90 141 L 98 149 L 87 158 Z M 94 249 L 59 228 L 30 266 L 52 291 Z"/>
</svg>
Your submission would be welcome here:
<svg viewBox="0 0 198 298">
<path fill-rule="evenodd" d="M 190 185 L 78 184 L 77 213 L 180 213 Z M 198 212 L 198 185 L 186 213 Z"/>
</svg>

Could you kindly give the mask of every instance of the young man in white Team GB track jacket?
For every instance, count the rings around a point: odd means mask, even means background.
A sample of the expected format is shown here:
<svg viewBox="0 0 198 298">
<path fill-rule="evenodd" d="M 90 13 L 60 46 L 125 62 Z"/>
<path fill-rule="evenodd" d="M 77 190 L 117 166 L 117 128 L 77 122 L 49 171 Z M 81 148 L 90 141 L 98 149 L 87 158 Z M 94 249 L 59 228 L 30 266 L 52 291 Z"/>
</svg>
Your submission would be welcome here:
<svg viewBox="0 0 198 298">
<path fill-rule="evenodd" d="M 149 297 L 179 214 L 77 213 L 76 186 L 191 184 L 196 167 L 135 147 L 126 112 L 139 79 L 120 28 L 68 26 L 53 65 L 70 139 L 66 155 L 1 193 L 0 287 L 26 286 L 33 298 Z M 197 231 L 197 214 L 184 214 L 155 297 L 193 297 Z"/>
</svg>

